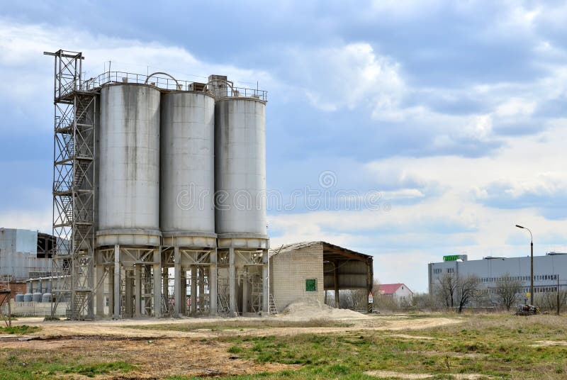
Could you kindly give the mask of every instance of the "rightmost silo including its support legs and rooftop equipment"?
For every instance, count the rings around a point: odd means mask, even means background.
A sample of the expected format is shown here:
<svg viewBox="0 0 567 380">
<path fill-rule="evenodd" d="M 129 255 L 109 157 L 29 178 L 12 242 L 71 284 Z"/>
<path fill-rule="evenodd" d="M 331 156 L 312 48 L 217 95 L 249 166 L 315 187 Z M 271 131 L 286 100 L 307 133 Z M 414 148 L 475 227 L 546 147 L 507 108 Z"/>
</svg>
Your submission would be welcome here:
<svg viewBox="0 0 567 380">
<path fill-rule="evenodd" d="M 209 77 L 213 83 L 219 76 Z M 269 312 L 266 235 L 266 102 L 226 82 L 215 104 L 219 300 L 229 315 Z M 223 301 L 224 300 L 224 301 Z"/>
</svg>

